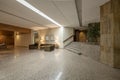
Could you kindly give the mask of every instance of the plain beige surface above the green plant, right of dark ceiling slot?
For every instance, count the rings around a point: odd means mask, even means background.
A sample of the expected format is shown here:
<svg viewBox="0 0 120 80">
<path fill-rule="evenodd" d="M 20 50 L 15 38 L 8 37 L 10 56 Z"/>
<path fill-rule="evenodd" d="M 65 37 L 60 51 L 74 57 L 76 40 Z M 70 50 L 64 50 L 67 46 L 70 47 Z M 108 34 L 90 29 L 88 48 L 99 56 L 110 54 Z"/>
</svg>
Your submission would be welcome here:
<svg viewBox="0 0 120 80">
<path fill-rule="evenodd" d="M 82 24 L 100 21 L 100 6 L 109 0 L 82 0 Z"/>
</svg>

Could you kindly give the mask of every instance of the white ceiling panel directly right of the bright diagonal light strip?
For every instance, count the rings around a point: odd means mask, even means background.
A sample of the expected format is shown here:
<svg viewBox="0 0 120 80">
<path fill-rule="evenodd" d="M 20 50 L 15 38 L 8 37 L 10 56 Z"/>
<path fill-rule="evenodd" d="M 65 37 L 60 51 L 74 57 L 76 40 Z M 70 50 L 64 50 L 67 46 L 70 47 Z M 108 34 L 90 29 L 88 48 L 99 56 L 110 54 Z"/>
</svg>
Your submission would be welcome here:
<svg viewBox="0 0 120 80">
<path fill-rule="evenodd" d="M 34 5 L 37 9 L 41 10 L 43 13 L 57 21 L 62 25 L 66 25 L 67 20 L 61 11 L 53 4 L 51 0 L 27 0 L 29 3 Z"/>
</svg>

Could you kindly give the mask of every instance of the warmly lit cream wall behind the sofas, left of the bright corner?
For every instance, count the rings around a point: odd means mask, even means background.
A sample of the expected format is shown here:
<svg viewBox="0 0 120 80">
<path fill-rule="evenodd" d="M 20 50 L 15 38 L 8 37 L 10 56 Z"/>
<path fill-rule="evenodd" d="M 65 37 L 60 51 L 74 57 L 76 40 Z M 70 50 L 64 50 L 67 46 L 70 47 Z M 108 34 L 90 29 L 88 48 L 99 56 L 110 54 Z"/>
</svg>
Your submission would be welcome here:
<svg viewBox="0 0 120 80">
<path fill-rule="evenodd" d="M 39 30 L 39 37 L 41 43 L 57 43 L 60 48 L 63 48 L 63 28 L 52 28 Z M 46 41 L 46 36 L 49 40 Z M 54 41 L 51 40 L 51 36 L 54 37 Z"/>
</svg>

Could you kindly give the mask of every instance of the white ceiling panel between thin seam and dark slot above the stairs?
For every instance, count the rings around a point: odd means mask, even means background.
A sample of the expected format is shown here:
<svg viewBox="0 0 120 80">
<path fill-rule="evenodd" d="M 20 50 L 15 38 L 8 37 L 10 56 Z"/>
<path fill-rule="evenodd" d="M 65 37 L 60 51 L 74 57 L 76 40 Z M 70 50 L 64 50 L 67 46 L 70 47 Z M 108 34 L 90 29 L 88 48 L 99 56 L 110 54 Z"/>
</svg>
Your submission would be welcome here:
<svg viewBox="0 0 120 80">
<path fill-rule="evenodd" d="M 68 20 L 68 26 L 79 26 L 75 0 L 54 0 L 54 3 L 60 9 L 64 17 Z"/>
</svg>

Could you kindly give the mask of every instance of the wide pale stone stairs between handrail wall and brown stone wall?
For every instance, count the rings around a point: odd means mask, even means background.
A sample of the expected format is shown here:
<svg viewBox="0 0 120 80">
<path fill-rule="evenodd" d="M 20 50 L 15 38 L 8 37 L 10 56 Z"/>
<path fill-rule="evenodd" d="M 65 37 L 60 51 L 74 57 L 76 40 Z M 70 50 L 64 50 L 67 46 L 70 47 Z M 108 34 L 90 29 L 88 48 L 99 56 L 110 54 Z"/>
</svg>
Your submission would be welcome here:
<svg viewBox="0 0 120 80">
<path fill-rule="evenodd" d="M 75 54 L 82 54 L 84 56 L 90 57 L 96 61 L 100 58 L 100 46 L 92 45 L 81 42 L 72 42 L 65 47 L 66 50 L 74 52 Z"/>
</svg>

